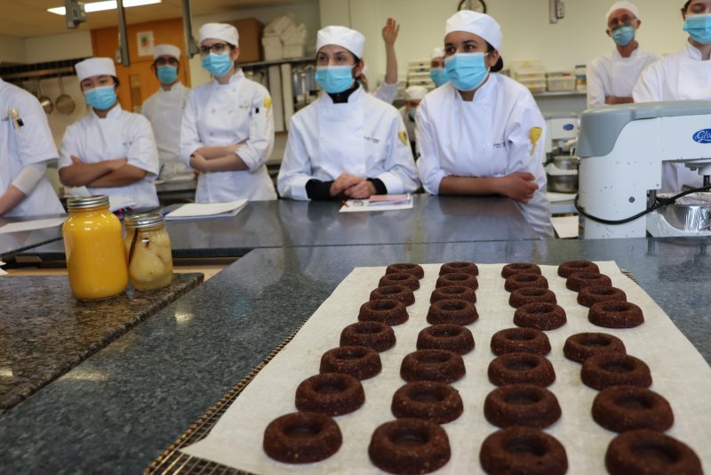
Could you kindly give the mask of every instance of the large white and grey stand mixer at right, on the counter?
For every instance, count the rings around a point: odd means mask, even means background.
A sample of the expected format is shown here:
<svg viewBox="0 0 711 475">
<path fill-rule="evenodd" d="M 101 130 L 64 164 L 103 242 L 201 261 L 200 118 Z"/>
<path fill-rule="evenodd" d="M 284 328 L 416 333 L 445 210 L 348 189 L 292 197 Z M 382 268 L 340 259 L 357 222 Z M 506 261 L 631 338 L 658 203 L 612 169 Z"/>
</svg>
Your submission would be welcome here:
<svg viewBox="0 0 711 475">
<path fill-rule="evenodd" d="M 577 153 L 581 238 L 643 238 L 648 230 L 652 236 L 711 235 L 711 201 L 648 212 L 657 205 L 665 162 L 683 163 L 709 184 L 711 101 L 587 110 Z"/>
</svg>

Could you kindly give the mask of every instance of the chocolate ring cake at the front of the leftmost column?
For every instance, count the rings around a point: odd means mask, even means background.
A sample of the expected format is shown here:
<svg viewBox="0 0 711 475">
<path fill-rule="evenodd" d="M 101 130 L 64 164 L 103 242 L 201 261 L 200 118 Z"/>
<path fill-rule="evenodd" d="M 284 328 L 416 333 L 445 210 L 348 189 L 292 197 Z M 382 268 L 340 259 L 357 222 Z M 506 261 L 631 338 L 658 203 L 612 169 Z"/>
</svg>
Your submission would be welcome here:
<svg viewBox="0 0 711 475">
<path fill-rule="evenodd" d="M 328 415 L 292 413 L 277 417 L 264 430 L 262 447 L 282 463 L 313 463 L 338 452 L 343 438 Z"/>
</svg>

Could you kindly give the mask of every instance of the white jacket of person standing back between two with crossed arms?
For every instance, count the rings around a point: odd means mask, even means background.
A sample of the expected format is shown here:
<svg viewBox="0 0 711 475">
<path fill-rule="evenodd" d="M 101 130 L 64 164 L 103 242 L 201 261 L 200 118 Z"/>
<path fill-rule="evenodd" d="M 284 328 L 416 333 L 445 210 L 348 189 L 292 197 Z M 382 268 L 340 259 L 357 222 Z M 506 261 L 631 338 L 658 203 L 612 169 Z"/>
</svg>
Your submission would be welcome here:
<svg viewBox="0 0 711 475">
<path fill-rule="evenodd" d="M 161 86 L 143 102 L 141 108 L 141 113 L 148 117 L 156 135 L 160 177 L 163 179 L 192 173 L 190 167 L 180 160 L 180 122 L 189 95 L 190 89 L 180 82 L 173 84 L 170 91 L 165 91 Z"/>
</svg>

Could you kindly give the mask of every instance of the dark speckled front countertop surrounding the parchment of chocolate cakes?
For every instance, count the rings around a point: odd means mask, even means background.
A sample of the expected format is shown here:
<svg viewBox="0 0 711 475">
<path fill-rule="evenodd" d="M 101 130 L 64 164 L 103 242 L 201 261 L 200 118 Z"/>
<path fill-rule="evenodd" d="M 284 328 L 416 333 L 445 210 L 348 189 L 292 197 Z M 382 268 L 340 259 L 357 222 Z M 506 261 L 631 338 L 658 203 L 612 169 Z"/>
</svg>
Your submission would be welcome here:
<svg viewBox="0 0 711 475">
<path fill-rule="evenodd" d="M 711 238 L 255 250 L 0 416 L 8 472 L 138 473 L 356 266 L 614 260 L 711 361 Z"/>
</svg>

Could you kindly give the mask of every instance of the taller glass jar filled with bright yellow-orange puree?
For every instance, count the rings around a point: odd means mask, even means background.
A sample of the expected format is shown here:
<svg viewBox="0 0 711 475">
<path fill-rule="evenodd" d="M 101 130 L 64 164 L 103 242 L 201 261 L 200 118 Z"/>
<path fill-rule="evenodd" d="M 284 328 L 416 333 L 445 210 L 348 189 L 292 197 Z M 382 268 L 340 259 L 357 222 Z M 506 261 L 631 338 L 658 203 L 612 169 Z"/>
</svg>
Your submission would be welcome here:
<svg viewBox="0 0 711 475">
<path fill-rule="evenodd" d="M 69 286 L 79 300 L 121 294 L 128 286 L 128 267 L 121 221 L 108 211 L 108 197 L 71 197 L 62 227 Z"/>
</svg>

